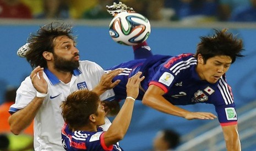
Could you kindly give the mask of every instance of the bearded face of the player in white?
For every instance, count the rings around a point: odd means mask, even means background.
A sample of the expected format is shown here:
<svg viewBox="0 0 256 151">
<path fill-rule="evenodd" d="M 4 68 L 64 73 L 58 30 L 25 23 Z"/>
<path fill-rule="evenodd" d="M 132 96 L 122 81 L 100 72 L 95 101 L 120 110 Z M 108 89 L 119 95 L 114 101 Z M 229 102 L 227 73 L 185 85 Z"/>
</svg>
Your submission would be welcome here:
<svg viewBox="0 0 256 151">
<path fill-rule="evenodd" d="M 59 71 L 70 72 L 79 67 L 79 51 L 72 39 L 59 36 L 55 39 L 54 66 Z"/>
</svg>

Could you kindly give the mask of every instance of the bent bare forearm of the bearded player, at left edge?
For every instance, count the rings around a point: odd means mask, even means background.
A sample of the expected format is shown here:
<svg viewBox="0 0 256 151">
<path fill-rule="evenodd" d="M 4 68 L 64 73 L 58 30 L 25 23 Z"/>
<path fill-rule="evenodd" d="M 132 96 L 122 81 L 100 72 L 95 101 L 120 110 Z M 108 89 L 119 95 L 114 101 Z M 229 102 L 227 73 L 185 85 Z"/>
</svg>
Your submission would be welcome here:
<svg viewBox="0 0 256 151">
<path fill-rule="evenodd" d="M 9 119 L 10 131 L 19 135 L 34 120 L 43 102 L 43 97 L 35 97 L 29 104 L 20 111 L 13 113 Z"/>
</svg>

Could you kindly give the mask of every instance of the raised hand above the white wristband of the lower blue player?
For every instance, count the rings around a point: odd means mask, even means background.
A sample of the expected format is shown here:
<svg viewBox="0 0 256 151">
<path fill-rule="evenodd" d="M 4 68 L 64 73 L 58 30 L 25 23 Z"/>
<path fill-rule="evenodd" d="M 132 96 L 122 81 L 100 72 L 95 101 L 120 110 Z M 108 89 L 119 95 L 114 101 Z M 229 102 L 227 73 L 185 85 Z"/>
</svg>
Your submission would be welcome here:
<svg viewBox="0 0 256 151">
<path fill-rule="evenodd" d="M 140 75 L 142 72 L 138 72 L 132 77 L 128 79 L 127 85 L 126 85 L 126 92 L 127 96 L 137 98 L 139 95 L 139 84 L 140 82 L 145 78 L 144 76 L 140 78 Z"/>
</svg>

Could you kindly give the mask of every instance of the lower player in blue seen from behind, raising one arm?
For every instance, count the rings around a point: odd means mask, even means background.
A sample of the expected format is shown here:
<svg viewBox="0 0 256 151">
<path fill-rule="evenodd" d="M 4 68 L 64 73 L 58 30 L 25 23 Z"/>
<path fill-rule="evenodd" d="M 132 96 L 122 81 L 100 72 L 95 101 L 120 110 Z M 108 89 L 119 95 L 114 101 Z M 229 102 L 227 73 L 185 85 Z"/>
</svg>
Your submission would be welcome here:
<svg viewBox="0 0 256 151">
<path fill-rule="evenodd" d="M 65 125 L 62 128 L 62 146 L 66 150 L 123 150 L 118 145 L 126 134 L 132 119 L 135 98 L 139 94 L 139 83 L 145 77 L 141 72 L 128 79 L 127 97 L 112 125 L 104 131 L 104 106 L 99 96 L 89 90 L 78 90 L 70 94 L 61 104 Z"/>
</svg>

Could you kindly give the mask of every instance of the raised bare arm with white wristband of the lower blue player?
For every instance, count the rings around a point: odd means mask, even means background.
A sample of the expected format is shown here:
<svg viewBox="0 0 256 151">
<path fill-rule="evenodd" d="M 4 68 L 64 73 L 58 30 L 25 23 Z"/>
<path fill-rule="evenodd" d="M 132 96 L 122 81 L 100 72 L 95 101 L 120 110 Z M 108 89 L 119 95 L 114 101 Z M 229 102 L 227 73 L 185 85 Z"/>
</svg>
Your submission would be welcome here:
<svg viewBox="0 0 256 151">
<path fill-rule="evenodd" d="M 107 147 L 122 140 L 128 130 L 130 120 L 132 119 L 134 101 L 139 94 L 139 83 L 145 78 L 144 76 L 140 78 L 140 75 L 141 72 L 138 72 L 128 79 L 126 85 L 127 98 L 116 118 L 113 120 L 112 125 L 104 134 L 104 142 Z"/>
</svg>

